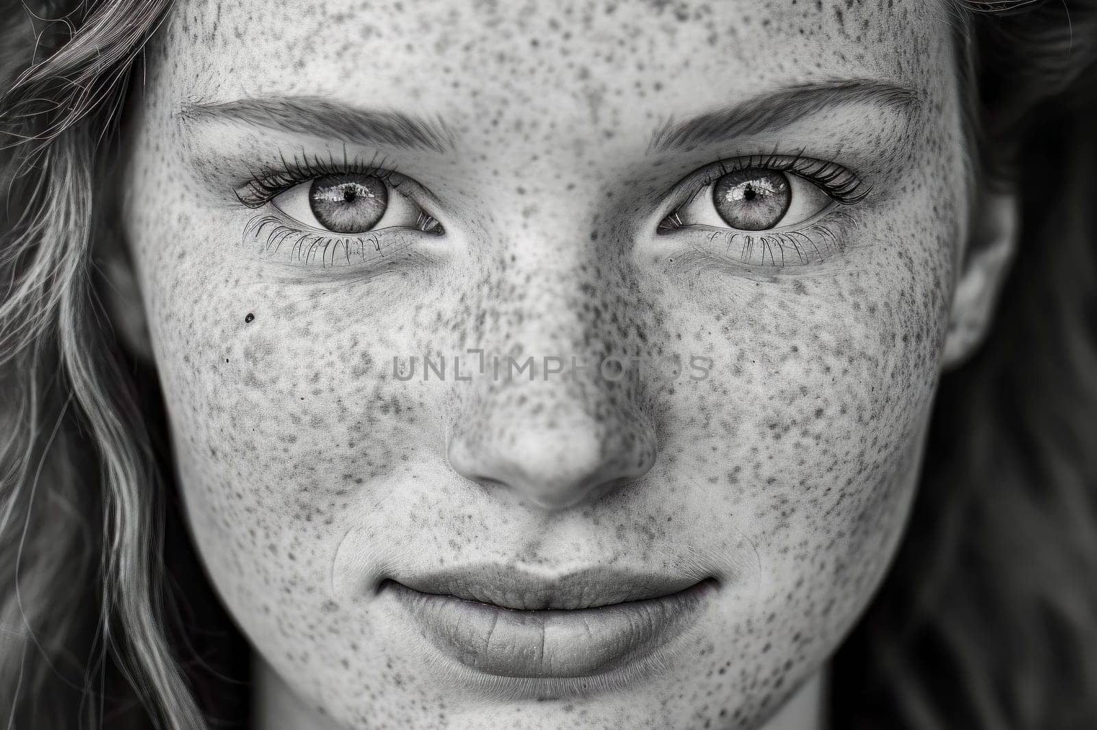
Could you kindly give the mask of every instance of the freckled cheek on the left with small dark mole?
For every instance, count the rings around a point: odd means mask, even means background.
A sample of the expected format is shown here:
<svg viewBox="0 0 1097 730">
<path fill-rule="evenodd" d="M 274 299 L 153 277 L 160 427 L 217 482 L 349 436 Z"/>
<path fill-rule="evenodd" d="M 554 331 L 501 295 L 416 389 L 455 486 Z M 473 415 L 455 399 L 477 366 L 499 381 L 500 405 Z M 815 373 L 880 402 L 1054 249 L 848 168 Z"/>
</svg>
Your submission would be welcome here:
<svg viewBox="0 0 1097 730">
<path fill-rule="evenodd" d="M 386 304 L 399 275 L 325 290 L 272 283 L 241 255 L 240 229 L 165 189 L 146 187 L 131 230 L 174 463 L 195 543 L 252 634 L 272 628 L 271 612 L 318 608 L 347 515 L 369 513 L 361 486 L 387 491 L 425 460 L 421 396 L 386 376 L 395 354 L 428 350 L 393 324 L 416 317 Z M 278 596 L 293 597 L 280 607 Z"/>
</svg>

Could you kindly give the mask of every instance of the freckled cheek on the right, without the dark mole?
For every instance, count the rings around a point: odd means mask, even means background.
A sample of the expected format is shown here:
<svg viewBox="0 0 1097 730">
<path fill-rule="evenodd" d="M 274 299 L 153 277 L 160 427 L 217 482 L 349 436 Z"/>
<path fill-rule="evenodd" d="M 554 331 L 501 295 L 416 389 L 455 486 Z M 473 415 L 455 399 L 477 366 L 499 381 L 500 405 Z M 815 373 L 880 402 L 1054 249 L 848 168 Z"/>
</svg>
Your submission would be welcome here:
<svg viewBox="0 0 1097 730">
<path fill-rule="evenodd" d="M 674 309 L 689 347 L 717 354 L 711 377 L 668 403 L 660 458 L 708 477 L 704 497 L 683 501 L 688 524 L 733 527 L 760 563 L 750 613 L 769 620 L 751 631 L 728 611 L 728 631 L 753 637 L 736 661 L 817 661 L 893 554 L 939 374 L 957 235 L 951 212 L 926 227 L 914 225 L 918 209 L 866 223 L 850 263 L 830 273 L 710 280 L 703 308 Z"/>
</svg>

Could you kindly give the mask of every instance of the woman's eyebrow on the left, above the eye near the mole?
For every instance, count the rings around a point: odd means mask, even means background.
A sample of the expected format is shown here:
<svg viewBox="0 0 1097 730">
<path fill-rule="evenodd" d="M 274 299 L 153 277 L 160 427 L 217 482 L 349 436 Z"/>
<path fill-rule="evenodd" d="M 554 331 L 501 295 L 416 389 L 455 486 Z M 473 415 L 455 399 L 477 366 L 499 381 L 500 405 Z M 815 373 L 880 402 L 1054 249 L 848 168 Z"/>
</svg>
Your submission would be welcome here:
<svg viewBox="0 0 1097 730">
<path fill-rule="evenodd" d="M 397 149 L 444 152 L 453 139 L 441 119 L 363 110 L 320 96 L 260 96 L 214 104 L 188 103 L 178 114 L 184 121 L 238 122 L 263 129 Z"/>
</svg>

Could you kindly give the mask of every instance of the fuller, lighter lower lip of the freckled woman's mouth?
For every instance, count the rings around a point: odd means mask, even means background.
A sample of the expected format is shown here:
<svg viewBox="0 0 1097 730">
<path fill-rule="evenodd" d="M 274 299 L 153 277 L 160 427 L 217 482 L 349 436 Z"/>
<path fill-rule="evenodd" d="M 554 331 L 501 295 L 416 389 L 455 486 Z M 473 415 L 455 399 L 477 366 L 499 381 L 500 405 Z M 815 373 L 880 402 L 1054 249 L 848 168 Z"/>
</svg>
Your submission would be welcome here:
<svg viewBox="0 0 1097 730">
<path fill-rule="evenodd" d="M 597 608 L 516 611 L 389 581 L 396 598 L 439 651 L 497 676 L 580 677 L 640 661 L 669 643 L 701 613 L 715 588 Z"/>
</svg>

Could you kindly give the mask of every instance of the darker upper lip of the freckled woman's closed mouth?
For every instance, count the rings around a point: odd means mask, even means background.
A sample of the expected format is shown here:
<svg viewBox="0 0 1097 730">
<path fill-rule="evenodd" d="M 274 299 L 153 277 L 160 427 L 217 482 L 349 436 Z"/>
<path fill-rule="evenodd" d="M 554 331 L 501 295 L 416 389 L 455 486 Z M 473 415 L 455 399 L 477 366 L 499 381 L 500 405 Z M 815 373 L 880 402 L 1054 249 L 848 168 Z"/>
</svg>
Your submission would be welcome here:
<svg viewBox="0 0 1097 730">
<path fill-rule="evenodd" d="M 600 567 L 544 574 L 517 567 L 482 564 L 417 572 L 393 580 L 420 593 L 452 595 L 501 608 L 548 611 L 658 598 L 691 588 L 705 578 Z"/>
</svg>

